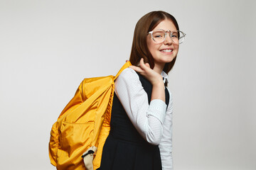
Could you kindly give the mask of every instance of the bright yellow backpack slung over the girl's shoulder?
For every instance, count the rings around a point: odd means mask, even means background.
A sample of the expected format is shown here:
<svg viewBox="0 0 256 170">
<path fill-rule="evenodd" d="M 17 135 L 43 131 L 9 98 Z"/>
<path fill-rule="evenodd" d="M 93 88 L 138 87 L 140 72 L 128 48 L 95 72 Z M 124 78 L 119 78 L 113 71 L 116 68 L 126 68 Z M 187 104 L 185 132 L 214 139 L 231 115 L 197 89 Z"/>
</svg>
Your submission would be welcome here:
<svg viewBox="0 0 256 170">
<path fill-rule="evenodd" d="M 90 147 L 97 147 L 93 169 L 100 167 L 102 149 L 110 132 L 114 80 L 130 65 L 125 63 L 115 77 L 82 81 L 50 131 L 50 163 L 57 169 L 85 170 L 81 156 Z"/>
</svg>

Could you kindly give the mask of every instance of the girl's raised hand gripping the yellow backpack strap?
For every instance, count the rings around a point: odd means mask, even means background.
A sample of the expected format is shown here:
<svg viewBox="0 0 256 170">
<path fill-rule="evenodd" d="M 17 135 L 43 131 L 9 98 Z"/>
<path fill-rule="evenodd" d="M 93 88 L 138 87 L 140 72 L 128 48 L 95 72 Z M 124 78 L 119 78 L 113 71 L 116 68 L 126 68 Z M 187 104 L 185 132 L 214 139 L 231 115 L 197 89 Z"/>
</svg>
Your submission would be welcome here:
<svg viewBox="0 0 256 170">
<path fill-rule="evenodd" d="M 139 72 L 139 74 L 142 74 L 142 76 L 148 79 L 153 86 L 155 84 L 164 84 L 161 75 L 151 69 L 149 63 L 144 64 L 143 58 L 139 61 L 139 67 L 130 66 L 129 68 L 134 69 L 134 71 Z"/>
</svg>

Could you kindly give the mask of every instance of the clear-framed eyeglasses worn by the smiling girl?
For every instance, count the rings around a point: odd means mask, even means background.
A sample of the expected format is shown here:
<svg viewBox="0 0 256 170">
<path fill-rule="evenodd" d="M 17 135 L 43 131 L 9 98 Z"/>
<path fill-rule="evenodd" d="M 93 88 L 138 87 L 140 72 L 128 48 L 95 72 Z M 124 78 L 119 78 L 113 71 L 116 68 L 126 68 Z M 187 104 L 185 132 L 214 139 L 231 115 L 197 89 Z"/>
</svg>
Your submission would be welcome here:
<svg viewBox="0 0 256 170">
<path fill-rule="evenodd" d="M 186 36 L 186 33 L 183 33 L 181 30 L 152 30 L 148 34 L 151 34 L 151 38 L 154 40 L 154 42 L 161 43 L 166 40 L 167 32 L 169 32 L 171 40 L 175 44 L 181 44 Z"/>
</svg>

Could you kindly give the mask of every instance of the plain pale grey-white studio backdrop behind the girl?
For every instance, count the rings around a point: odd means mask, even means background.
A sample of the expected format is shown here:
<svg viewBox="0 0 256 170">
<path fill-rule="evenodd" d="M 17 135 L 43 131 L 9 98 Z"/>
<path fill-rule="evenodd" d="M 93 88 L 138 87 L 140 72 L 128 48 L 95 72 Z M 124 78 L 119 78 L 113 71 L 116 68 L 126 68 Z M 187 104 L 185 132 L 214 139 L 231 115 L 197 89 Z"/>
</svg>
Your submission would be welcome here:
<svg viewBox="0 0 256 170">
<path fill-rule="evenodd" d="M 174 168 L 255 170 L 255 6 L 0 0 L 0 169 L 55 169 L 50 129 L 80 81 L 116 74 L 139 18 L 163 10 L 187 34 L 169 73 Z"/>
</svg>

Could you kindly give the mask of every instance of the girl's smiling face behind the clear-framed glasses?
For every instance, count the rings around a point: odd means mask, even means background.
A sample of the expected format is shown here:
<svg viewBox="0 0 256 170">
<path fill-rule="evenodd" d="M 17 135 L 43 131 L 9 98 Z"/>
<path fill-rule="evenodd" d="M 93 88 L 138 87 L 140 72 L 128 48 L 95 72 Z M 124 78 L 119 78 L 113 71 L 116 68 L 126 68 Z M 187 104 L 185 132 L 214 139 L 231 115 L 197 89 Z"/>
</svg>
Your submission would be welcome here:
<svg viewBox="0 0 256 170">
<path fill-rule="evenodd" d="M 176 27 L 171 20 L 166 19 L 161 21 L 161 23 L 154 28 L 154 30 L 158 29 L 174 31 L 176 30 Z M 161 43 L 154 42 L 154 40 L 151 38 L 151 34 L 149 34 L 147 35 L 146 43 L 149 48 L 149 52 L 151 52 L 151 55 L 154 58 L 154 69 L 164 69 L 164 65 L 167 62 L 174 60 L 178 54 L 178 44 L 175 44 L 171 40 L 169 33 L 167 33 L 164 42 Z"/>
</svg>

